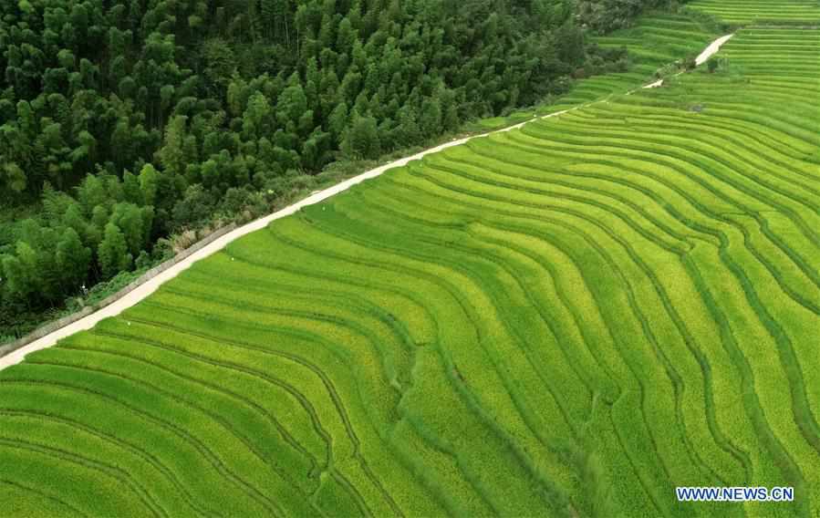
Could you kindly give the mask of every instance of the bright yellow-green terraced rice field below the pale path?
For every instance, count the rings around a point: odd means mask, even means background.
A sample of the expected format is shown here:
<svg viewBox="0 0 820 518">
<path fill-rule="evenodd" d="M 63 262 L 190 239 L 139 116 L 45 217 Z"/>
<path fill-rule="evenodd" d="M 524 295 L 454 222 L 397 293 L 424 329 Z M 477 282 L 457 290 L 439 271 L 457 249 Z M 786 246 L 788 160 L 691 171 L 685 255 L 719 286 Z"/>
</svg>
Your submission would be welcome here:
<svg viewBox="0 0 820 518">
<path fill-rule="evenodd" d="M 2 513 L 820 516 L 817 56 L 747 26 L 718 73 L 390 171 L 5 369 Z"/>
</svg>

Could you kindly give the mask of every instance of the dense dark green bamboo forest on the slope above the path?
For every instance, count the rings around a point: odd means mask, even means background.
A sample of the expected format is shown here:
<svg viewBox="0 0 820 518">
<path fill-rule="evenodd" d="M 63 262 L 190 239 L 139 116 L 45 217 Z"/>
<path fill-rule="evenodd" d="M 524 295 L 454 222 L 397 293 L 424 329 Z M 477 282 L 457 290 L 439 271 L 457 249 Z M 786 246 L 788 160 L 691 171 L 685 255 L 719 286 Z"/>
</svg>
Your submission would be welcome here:
<svg viewBox="0 0 820 518">
<path fill-rule="evenodd" d="M 0 235 L 4 304 L 57 304 L 297 171 L 561 93 L 582 27 L 648 3 L 0 3 L 0 202 L 43 205 Z"/>
</svg>

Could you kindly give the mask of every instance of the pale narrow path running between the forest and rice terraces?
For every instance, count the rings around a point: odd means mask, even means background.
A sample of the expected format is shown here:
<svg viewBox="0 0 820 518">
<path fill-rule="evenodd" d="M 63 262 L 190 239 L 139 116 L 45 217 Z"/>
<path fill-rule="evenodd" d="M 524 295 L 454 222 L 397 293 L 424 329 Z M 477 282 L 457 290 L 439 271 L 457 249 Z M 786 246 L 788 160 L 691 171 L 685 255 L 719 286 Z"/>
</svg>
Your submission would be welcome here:
<svg viewBox="0 0 820 518">
<path fill-rule="evenodd" d="M 731 38 L 732 36 L 734 36 L 734 35 L 721 36 L 720 38 L 713 41 L 709 45 L 709 47 L 706 47 L 706 49 L 703 52 L 701 52 L 701 55 L 697 57 L 697 60 L 696 60 L 697 65 L 701 65 L 702 63 L 706 62 L 706 60 L 709 59 L 713 54 L 715 54 L 721 48 L 721 46 L 724 43 L 726 43 L 726 41 L 728 41 L 729 38 Z M 659 83 L 657 85 L 657 86 L 659 86 L 660 83 L 662 83 L 662 81 L 656 82 L 656 83 Z M 653 85 L 655 85 L 655 83 L 652 83 L 651 85 L 647 85 L 644 88 L 649 88 L 649 87 L 652 87 Z M 595 102 L 601 102 L 601 101 L 594 101 L 593 103 L 588 103 L 588 104 L 594 104 Z M 576 110 L 576 109 L 583 108 L 583 107 L 587 106 L 588 104 L 578 105 L 578 106 L 576 106 L 576 108 L 572 108 L 572 109 L 565 109 L 565 110 L 562 110 L 562 111 L 557 111 L 555 113 L 545 115 L 541 119 L 549 119 L 551 117 L 557 117 L 557 116 L 562 115 L 562 114 L 564 114 L 568 111 L 573 111 L 573 110 Z M 96 311 L 96 312 L 94 312 L 94 313 L 92 313 L 88 316 L 85 316 L 85 317 L 79 319 L 77 322 L 74 322 L 74 323 L 69 324 L 65 327 L 57 329 L 57 331 L 54 331 L 53 333 L 50 333 L 50 334 L 46 335 L 45 337 L 41 337 L 41 338 L 35 340 L 34 342 L 28 344 L 25 347 L 20 347 L 19 349 L 9 353 L 5 357 L 0 357 L 0 370 L 2 370 L 4 368 L 7 368 L 7 367 L 11 367 L 13 365 L 16 365 L 16 364 L 22 362 L 23 359 L 26 357 L 26 355 L 29 355 L 29 354 L 31 354 L 35 351 L 41 350 L 41 349 L 45 349 L 47 347 L 54 346 L 55 344 L 57 344 L 57 341 L 59 341 L 62 338 L 73 335 L 74 333 L 78 333 L 79 331 L 85 331 L 85 330 L 90 329 L 91 327 L 97 325 L 97 323 L 100 320 L 103 320 L 104 318 L 108 318 L 109 316 L 119 315 L 124 310 L 128 309 L 130 306 L 136 305 L 142 299 L 144 299 L 148 295 L 151 295 L 154 291 L 157 290 L 157 288 L 159 288 L 166 281 L 169 281 L 172 278 L 174 278 L 175 276 L 180 275 L 180 273 L 183 270 L 187 269 L 189 266 L 196 263 L 200 259 L 204 259 L 205 257 L 207 257 L 211 254 L 214 254 L 215 252 L 218 252 L 218 251 L 222 250 L 225 246 L 227 246 L 228 243 L 231 243 L 232 241 L 234 241 L 236 239 L 239 239 L 240 237 L 244 236 L 245 234 L 252 233 L 252 232 L 255 232 L 257 230 L 261 230 L 261 229 L 265 228 L 269 223 L 274 222 L 275 220 L 278 220 L 280 218 L 284 218 L 285 216 L 289 216 L 289 215 L 297 212 L 302 207 L 306 207 L 307 205 L 312 205 L 312 204 L 318 203 L 318 202 L 323 202 L 323 201 L 327 200 L 327 198 L 330 198 L 331 196 L 333 196 L 334 194 L 337 194 L 338 192 L 347 191 L 350 187 L 356 185 L 357 183 L 361 183 L 362 181 L 369 180 L 371 178 L 376 178 L 381 173 L 383 173 L 385 171 L 389 171 L 390 169 L 394 169 L 394 168 L 406 165 L 410 161 L 420 160 L 425 155 L 429 155 L 431 153 L 436 153 L 436 152 L 439 152 L 441 150 L 446 150 L 447 148 L 452 148 L 453 146 L 459 146 L 459 145 L 467 142 L 468 140 L 480 139 L 482 137 L 486 137 L 487 135 L 492 135 L 493 133 L 501 133 L 503 131 L 510 131 L 511 129 L 521 128 L 522 126 L 524 126 L 524 124 L 527 124 L 528 122 L 531 122 L 532 120 L 533 119 L 525 120 L 524 122 L 521 122 L 519 124 L 515 124 L 514 126 L 509 126 L 507 128 L 503 128 L 503 129 L 496 129 L 496 130 L 490 131 L 488 133 L 482 133 L 480 135 L 473 135 L 472 137 L 466 137 L 464 139 L 459 139 L 459 140 L 452 140 L 451 142 L 441 144 L 440 146 L 436 146 L 436 147 L 431 148 L 429 150 L 420 151 L 419 153 L 416 153 L 415 155 L 412 155 L 410 157 L 405 157 L 405 158 L 400 159 L 398 161 L 392 161 L 392 162 L 390 162 L 388 164 L 385 164 L 383 166 L 380 166 L 376 169 L 372 169 L 370 171 L 363 172 L 363 173 L 359 174 L 358 176 L 350 178 L 346 181 L 342 181 L 342 182 L 338 183 L 337 185 L 334 185 L 333 187 L 329 187 L 329 188 L 325 189 L 324 191 L 320 191 L 320 192 L 316 192 L 314 194 L 311 194 L 310 196 L 308 196 L 306 199 L 302 200 L 301 202 L 296 202 L 293 205 L 285 207 L 285 209 L 274 212 L 272 214 L 268 214 L 264 218 L 260 218 L 260 219 L 254 221 L 254 222 L 247 223 L 247 224 L 235 229 L 234 231 L 232 231 L 230 233 L 226 233 L 222 237 L 220 237 L 220 238 L 216 239 L 215 241 L 213 241 L 213 243 L 209 243 L 208 245 L 202 247 L 202 250 L 199 250 L 196 253 L 191 254 L 189 257 L 187 257 L 186 259 L 182 260 L 181 262 L 179 262 L 177 264 L 174 264 L 173 266 L 171 266 L 171 268 L 165 270 L 160 275 L 157 275 L 156 277 L 153 277 L 149 281 L 146 281 L 145 284 L 140 285 L 137 288 L 134 288 L 132 291 L 130 291 L 130 293 L 123 296 L 118 301 L 109 304 L 109 306 L 105 306 L 103 308 L 100 308 L 99 311 Z"/>
</svg>

